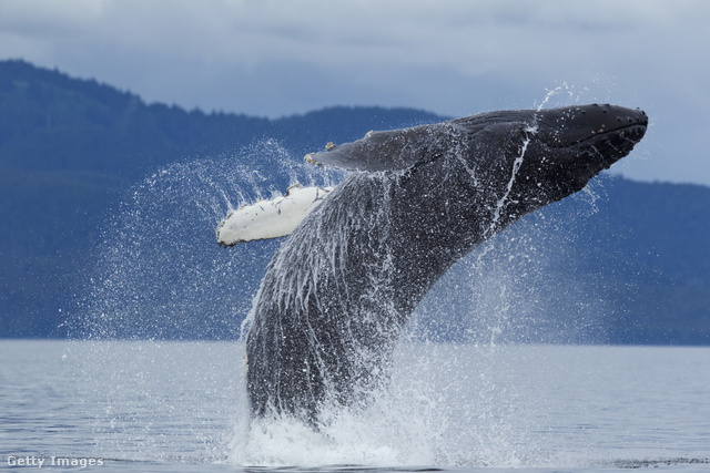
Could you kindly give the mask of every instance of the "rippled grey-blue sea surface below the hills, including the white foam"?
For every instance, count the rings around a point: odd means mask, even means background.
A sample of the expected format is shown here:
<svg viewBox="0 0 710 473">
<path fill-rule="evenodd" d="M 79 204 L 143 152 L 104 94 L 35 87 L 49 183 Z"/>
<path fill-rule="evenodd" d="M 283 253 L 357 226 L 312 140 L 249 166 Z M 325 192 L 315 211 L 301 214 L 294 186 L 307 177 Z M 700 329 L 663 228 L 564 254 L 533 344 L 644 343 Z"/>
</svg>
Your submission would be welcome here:
<svg viewBox="0 0 710 473">
<path fill-rule="evenodd" d="M 321 432 L 243 382 L 236 342 L 0 340 L 0 469 L 710 471 L 710 348 L 403 343 Z"/>
</svg>

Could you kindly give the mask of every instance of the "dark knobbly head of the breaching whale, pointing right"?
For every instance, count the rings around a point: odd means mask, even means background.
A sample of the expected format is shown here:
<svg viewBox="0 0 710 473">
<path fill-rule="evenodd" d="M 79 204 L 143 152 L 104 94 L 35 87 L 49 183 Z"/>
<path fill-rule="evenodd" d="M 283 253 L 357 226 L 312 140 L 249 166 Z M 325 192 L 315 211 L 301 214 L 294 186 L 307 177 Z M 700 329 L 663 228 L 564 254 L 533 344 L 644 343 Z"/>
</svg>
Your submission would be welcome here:
<svg viewBox="0 0 710 473">
<path fill-rule="evenodd" d="M 643 137 L 648 116 L 638 109 L 592 104 L 490 112 L 447 123 L 462 136 L 468 168 L 486 183 L 488 205 L 505 205 L 515 219 L 580 191 L 628 155 Z"/>
</svg>

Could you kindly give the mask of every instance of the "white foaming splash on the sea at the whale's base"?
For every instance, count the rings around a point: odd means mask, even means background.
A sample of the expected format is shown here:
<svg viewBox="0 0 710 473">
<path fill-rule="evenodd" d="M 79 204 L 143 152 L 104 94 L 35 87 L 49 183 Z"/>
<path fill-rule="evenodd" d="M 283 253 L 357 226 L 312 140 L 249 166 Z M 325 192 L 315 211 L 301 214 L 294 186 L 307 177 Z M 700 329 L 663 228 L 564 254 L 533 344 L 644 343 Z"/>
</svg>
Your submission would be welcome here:
<svg viewBox="0 0 710 473">
<path fill-rule="evenodd" d="M 227 461 L 298 470 L 546 464 L 552 452 L 539 422 L 551 407 L 530 409 L 528 398 L 538 398 L 520 382 L 521 356 L 514 347 L 400 343 L 392 383 L 365 411 L 334 411 L 318 431 L 287 418 L 240 423 Z"/>
</svg>

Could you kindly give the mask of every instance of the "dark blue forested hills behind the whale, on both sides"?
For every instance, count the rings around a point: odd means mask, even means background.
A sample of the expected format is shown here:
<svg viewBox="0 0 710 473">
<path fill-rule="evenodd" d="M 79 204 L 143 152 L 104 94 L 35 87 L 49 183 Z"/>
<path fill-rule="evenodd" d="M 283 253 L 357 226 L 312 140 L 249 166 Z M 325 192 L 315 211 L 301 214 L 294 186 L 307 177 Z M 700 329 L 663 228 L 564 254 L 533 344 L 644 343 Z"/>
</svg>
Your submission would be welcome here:
<svg viewBox="0 0 710 473">
<path fill-rule="evenodd" d="M 75 279 L 85 271 L 101 218 L 146 174 L 195 157 L 220 160 L 265 138 L 302 156 L 369 130 L 440 120 L 378 107 L 278 120 L 207 114 L 146 104 L 23 61 L 0 61 L 0 336 L 65 336 L 60 309 L 78 297 Z M 612 265 L 604 277 L 635 285 L 637 291 L 619 300 L 623 319 L 648 321 L 636 338 L 609 341 L 709 343 L 710 189 L 612 179 L 608 194 L 577 238 L 579 254 L 621 251 L 626 266 Z M 625 273 L 630 267 L 636 276 Z M 641 281 L 642 271 L 663 276 Z"/>
</svg>

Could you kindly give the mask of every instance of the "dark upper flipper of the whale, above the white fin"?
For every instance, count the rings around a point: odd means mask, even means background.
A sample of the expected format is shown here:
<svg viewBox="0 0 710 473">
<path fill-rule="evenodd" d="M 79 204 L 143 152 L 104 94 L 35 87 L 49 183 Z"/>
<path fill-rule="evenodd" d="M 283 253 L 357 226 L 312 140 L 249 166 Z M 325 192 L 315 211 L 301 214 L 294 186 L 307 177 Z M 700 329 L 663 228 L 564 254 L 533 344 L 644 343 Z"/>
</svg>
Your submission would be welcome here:
<svg viewBox="0 0 710 473">
<path fill-rule="evenodd" d="M 450 148 L 450 140 L 456 135 L 457 127 L 450 122 L 372 131 L 352 143 L 328 143 L 326 151 L 310 153 L 304 160 L 306 163 L 346 171 L 400 171 L 438 158 L 445 150 Z"/>
</svg>

